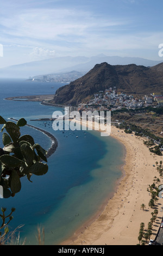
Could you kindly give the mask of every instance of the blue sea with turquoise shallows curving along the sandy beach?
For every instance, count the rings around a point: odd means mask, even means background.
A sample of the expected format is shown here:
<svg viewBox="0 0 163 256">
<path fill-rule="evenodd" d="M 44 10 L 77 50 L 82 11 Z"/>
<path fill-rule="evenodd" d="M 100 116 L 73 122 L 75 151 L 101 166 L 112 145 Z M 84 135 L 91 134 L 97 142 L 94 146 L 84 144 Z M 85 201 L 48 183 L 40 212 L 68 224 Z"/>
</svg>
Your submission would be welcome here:
<svg viewBox="0 0 163 256">
<path fill-rule="evenodd" d="M 41 239 L 45 245 L 60 245 L 85 227 L 103 209 L 122 177 L 125 150 L 111 136 L 102 137 L 98 131 L 54 131 L 54 111 L 64 108 L 42 105 L 40 102 L 5 100 L 7 97 L 54 94 L 63 83 L 29 82 L 23 79 L 0 80 L 0 115 L 25 118 L 27 123 L 52 133 L 58 148 L 48 158 L 48 172 L 32 175 L 30 182 L 21 178 L 21 191 L 14 197 L 1 198 L 1 207 L 16 210 L 8 224 L 9 232 L 20 235 L 20 244 L 38 245 L 38 229 L 44 230 Z M 2 125 L 0 125 L 1 129 Z M 33 136 L 35 143 L 48 150 L 51 139 L 32 127 L 21 127 L 21 135 Z M 0 147 L 3 148 L 2 132 Z M 1 220 L 0 220 L 1 224 Z M 86 228 L 86 227 L 85 227 Z"/>
</svg>

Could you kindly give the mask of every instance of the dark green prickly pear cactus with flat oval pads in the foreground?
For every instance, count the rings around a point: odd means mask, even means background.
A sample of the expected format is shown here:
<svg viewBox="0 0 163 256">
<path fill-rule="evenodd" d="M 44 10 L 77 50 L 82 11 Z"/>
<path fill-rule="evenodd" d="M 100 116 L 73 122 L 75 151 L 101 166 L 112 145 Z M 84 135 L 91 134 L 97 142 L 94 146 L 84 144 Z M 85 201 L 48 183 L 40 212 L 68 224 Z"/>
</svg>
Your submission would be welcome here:
<svg viewBox="0 0 163 256">
<path fill-rule="evenodd" d="M 21 190 L 21 180 L 27 176 L 43 175 L 48 171 L 46 154 L 47 151 L 34 142 L 30 135 L 21 136 L 20 127 L 27 124 L 21 118 L 15 124 L 5 121 L 0 115 L 0 124 L 3 124 L 1 132 L 3 148 L 0 148 L 0 185 L 3 187 L 4 198 L 14 196 Z"/>
</svg>

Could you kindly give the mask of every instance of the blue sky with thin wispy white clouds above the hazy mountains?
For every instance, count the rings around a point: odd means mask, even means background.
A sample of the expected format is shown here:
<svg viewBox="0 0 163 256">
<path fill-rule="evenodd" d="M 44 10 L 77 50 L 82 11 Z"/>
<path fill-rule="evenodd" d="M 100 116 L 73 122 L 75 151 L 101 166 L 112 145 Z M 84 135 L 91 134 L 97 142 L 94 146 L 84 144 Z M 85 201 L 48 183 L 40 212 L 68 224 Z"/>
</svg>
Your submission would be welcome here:
<svg viewBox="0 0 163 256">
<path fill-rule="evenodd" d="M 0 0 L 0 68 L 102 53 L 163 61 L 162 7 L 162 0 Z"/>
</svg>

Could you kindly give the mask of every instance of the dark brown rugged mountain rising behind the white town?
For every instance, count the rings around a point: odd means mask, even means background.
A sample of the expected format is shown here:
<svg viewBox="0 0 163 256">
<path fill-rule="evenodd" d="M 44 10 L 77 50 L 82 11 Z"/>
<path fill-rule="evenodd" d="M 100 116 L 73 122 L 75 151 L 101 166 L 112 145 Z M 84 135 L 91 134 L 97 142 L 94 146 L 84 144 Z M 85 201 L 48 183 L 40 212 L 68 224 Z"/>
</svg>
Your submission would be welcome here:
<svg viewBox="0 0 163 256">
<path fill-rule="evenodd" d="M 60 87 L 54 96 L 54 103 L 73 105 L 110 87 L 119 92 L 145 95 L 163 93 L 163 63 L 147 67 L 143 65 L 96 64 L 86 75 L 70 84 Z"/>
</svg>

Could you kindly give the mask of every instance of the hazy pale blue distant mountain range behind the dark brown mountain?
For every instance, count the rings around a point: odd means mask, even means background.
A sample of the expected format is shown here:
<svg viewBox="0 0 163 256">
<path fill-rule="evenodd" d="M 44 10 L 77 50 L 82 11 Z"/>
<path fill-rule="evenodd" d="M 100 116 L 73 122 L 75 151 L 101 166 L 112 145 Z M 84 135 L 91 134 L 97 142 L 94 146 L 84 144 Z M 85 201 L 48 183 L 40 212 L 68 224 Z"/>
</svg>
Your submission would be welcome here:
<svg viewBox="0 0 163 256">
<path fill-rule="evenodd" d="M 50 59 L 2 68 L 0 69 L 0 77 L 27 79 L 33 76 L 55 74 L 59 72 L 70 72 L 72 70 L 86 73 L 96 64 L 103 62 L 109 63 L 110 65 L 136 64 L 143 66 L 154 66 L 161 63 L 161 61 L 148 60 L 143 58 L 105 56 L 104 54 L 92 57 L 54 57 Z"/>
</svg>

